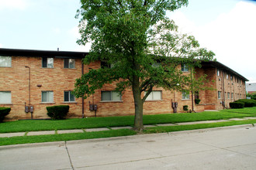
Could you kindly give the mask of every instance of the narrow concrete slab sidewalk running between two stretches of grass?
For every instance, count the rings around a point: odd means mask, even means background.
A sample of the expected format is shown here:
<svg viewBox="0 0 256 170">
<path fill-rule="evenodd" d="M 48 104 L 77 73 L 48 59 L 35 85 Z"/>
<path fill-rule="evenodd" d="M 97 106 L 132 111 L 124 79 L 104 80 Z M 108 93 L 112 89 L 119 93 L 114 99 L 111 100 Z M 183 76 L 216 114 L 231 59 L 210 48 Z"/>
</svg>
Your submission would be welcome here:
<svg viewBox="0 0 256 170">
<path fill-rule="evenodd" d="M 216 120 L 216 121 L 192 121 L 182 122 L 177 124 L 156 124 L 156 125 L 144 125 L 144 128 L 152 128 L 157 126 L 178 126 L 186 124 L 210 124 L 224 121 L 244 121 L 249 119 L 256 119 L 256 117 L 243 117 L 243 118 L 232 118 L 228 120 Z M 88 129 L 72 129 L 72 130 L 57 130 L 57 131 L 29 131 L 29 132 L 17 132 L 17 133 L 2 133 L 0 138 L 10 138 L 15 136 L 33 136 L 33 135 L 44 135 L 44 134 L 71 134 L 71 133 L 85 133 L 91 131 L 109 131 L 116 129 L 131 129 L 132 127 L 112 127 L 112 128 L 88 128 Z"/>
</svg>

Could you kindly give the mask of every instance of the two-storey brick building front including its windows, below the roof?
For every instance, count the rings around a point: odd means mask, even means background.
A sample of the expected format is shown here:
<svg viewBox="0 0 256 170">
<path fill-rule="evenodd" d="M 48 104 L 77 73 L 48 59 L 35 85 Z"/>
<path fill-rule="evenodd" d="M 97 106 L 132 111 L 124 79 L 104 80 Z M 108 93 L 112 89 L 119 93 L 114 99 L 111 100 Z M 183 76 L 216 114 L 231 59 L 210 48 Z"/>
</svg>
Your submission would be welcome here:
<svg viewBox="0 0 256 170">
<path fill-rule="evenodd" d="M 74 98 L 71 93 L 74 83 L 90 69 L 105 66 L 100 61 L 90 65 L 82 64 L 88 53 L 44 51 L 28 49 L 0 49 L 0 107 L 11 107 L 7 120 L 40 119 L 47 117 L 46 107 L 69 105 L 67 117 L 106 117 L 133 115 L 133 93 L 126 90 L 123 96 L 114 91 L 115 83 L 104 87 L 87 99 Z M 179 67 L 189 74 L 186 66 Z M 207 87 L 197 93 L 154 88 L 144 103 L 144 114 L 173 113 L 172 102 L 177 102 L 177 112 L 184 112 L 183 106 L 195 111 L 220 110 L 229 107 L 231 101 L 245 98 L 244 76 L 219 62 L 202 62 L 195 68 L 195 78 L 207 75 Z M 192 99 L 199 98 L 200 104 Z M 91 106 L 91 107 L 90 107 Z"/>
</svg>

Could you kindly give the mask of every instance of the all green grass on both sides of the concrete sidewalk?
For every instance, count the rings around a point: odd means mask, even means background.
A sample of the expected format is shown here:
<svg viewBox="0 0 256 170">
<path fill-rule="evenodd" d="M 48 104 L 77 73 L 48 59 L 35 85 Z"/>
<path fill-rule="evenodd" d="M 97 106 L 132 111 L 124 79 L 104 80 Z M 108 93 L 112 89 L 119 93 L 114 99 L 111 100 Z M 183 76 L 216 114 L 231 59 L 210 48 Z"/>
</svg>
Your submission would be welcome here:
<svg viewBox="0 0 256 170">
<path fill-rule="evenodd" d="M 144 124 L 163 124 L 178 123 L 189 121 L 209 121 L 229 119 L 234 117 L 256 117 L 256 107 L 244 108 L 239 110 L 221 110 L 219 112 L 202 112 L 192 114 L 158 114 L 144 115 Z M 177 125 L 170 127 L 154 127 L 146 128 L 144 134 L 163 133 L 171 131 L 187 131 L 202 128 L 216 128 L 224 126 L 233 126 L 239 124 L 256 124 L 256 120 L 245 121 L 226 121 L 211 124 L 189 124 Z M 45 130 L 61 130 L 75 128 L 101 128 L 133 125 L 133 116 L 126 117 L 89 117 L 85 119 L 68 119 L 62 121 L 12 121 L 0 124 L 0 133 L 17 132 L 17 131 L 45 131 Z M 137 134 L 136 131 L 130 129 L 119 129 L 110 131 L 95 131 L 73 134 L 48 134 L 36 136 L 19 136 L 11 138 L 0 138 L 0 145 L 16 145 L 26 143 L 38 143 L 47 141 L 71 141 L 90 138 L 109 138 L 117 136 L 127 136 Z"/>
</svg>

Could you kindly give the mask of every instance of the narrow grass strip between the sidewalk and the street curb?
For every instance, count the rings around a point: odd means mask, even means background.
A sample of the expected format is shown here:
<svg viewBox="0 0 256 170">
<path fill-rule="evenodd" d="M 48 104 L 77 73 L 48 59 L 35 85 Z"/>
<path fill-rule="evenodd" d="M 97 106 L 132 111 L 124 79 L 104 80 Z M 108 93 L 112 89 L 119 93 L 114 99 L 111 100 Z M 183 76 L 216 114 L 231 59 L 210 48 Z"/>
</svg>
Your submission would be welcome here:
<svg viewBox="0 0 256 170">
<path fill-rule="evenodd" d="M 218 128 L 226 126 L 234 126 L 240 124 L 255 124 L 256 120 L 245 120 L 245 121 L 225 121 L 211 124 L 189 124 L 189 125 L 179 125 L 170 127 L 155 127 L 146 128 L 144 134 L 154 134 L 154 133 L 164 133 L 171 131 L 189 131 L 195 129 L 205 129 L 205 128 Z M 137 132 L 130 129 L 119 129 L 110 131 L 94 131 L 85 133 L 74 133 L 74 134 L 47 134 L 47 135 L 37 135 L 37 136 L 19 136 L 11 138 L 1 138 L 0 145 L 17 145 L 17 144 L 28 144 L 28 143 L 39 143 L 39 142 L 49 142 L 49 141 L 71 141 L 71 140 L 81 140 L 81 139 L 92 139 L 92 138 L 110 138 L 118 136 L 128 136 L 134 135 Z"/>
</svg>

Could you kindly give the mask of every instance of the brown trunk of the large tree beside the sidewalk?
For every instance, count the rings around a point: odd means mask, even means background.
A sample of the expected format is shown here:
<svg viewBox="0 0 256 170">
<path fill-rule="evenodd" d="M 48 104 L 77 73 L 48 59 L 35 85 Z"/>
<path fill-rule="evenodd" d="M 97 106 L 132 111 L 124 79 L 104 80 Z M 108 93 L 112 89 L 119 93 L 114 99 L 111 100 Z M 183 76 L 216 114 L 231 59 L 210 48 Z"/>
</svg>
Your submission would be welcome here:
<svg viewBox="0 0 256 170">
<path fill-rule="evenodd" d="M 140 97 L 140 82 L 137 77 L 133 79 L 133 99 L 135 107 L 134 131 L 143 131 L 143 101 Z"/>
</svg>

